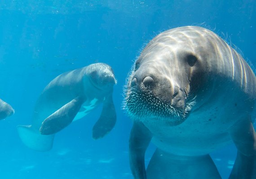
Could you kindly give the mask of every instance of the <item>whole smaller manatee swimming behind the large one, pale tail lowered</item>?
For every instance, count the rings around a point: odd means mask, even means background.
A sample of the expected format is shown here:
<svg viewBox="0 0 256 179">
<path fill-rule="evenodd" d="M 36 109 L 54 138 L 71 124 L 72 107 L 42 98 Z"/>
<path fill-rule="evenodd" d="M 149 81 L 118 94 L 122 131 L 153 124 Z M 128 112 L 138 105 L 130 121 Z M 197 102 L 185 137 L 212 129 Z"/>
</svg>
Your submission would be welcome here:
<svg viewBox="0 0 256 179">
<path fill-rule="evenodd" d="M 81 119 L 101 103 L 102 113 L 93 127 L 93 138 L 105 136 L 116 122 L 112 99 L 115 84 L 112 68 L 103 63 L 59 75 L 40 94 L 32 124 L 18 126 L 23 143 L 37 151 L 50 150 L 56 132 Z"/>
</svg>

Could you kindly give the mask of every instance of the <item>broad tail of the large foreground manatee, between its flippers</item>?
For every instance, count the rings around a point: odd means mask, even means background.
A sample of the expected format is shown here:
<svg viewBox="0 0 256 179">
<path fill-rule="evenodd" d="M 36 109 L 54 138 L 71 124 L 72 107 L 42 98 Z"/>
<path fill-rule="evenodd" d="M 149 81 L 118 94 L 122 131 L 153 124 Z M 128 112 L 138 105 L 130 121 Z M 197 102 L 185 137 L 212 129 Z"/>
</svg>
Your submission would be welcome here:
<svg viewBox="0 0 256 179">
<path fill-rule="evenodd" d="M 147 179 L 221 179 L 210 155 L 182 156 L 156 149 L 146 170 Z"/>
</svg>

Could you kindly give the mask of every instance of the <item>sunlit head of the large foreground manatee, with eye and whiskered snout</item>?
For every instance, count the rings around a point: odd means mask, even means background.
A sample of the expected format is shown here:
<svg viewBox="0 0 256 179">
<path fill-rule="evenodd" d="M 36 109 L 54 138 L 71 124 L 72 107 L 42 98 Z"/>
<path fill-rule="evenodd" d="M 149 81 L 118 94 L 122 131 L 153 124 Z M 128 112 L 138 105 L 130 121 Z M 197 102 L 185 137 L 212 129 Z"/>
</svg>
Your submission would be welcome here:
<svg viewBox="0 0 256 179">
<path fill-rule="evenodd" d="M 171 126 L 184 122 L 204 81 L 203 44 L 200 31 L 189 29 L 168 30 L 151 40 L 128 77 L 124 92 L 128 115 Z"/>
</svg>

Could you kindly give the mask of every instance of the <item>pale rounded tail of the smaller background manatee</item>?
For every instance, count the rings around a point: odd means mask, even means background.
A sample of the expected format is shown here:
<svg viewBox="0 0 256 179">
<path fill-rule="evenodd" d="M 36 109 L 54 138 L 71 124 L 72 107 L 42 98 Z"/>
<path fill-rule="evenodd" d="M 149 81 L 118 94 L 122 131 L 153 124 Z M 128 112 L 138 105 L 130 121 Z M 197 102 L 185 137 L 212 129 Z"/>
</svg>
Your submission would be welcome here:
<svg viewBox="0 0 256 179">
<path fill-rule="evenodd" d="M 36 151 L 48 151 L 53 147 L 54 135 L 44 136 L 29 126 L 17 126 L 18 134 L 22 142 L 30 149 Z"/>
</svg>

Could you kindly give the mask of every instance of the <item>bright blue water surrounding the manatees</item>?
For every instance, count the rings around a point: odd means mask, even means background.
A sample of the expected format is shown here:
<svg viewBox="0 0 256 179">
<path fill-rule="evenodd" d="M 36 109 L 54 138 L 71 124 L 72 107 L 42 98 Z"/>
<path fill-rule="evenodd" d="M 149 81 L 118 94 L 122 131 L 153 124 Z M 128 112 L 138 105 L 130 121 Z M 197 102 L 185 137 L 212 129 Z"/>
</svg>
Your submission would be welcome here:
<svg viewBox="0 0 256 179">
<path fill-rule="evenodd" d="M 127 73 L 156 34 L 200 25 L 236 45 L 256 66 L 254 0 L 1 0 L 0 98 L 15 114 L 0 121 L 0 179 L 132 179 L 128 136 L 132 121 L 121 103 Z M 104 62 L 115 71 L 117 123 L 92 139 L 101 108 L 57 133 L 53 149 L 22 144 L 16 126 L 31 124 L 35 101 L 54 77 Z M 154 146 L 146 153 L 146 164 Z M 223 179 L 234 164 L 233 145 L 212 153 Z"/>
</svg>

